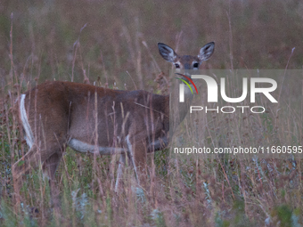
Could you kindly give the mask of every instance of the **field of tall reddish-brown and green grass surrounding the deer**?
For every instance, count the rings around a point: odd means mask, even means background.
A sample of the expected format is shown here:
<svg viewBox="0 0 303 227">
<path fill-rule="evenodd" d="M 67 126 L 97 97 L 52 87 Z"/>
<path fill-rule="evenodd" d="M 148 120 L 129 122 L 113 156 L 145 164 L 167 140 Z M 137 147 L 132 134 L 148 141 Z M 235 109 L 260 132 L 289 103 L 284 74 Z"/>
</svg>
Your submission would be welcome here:
<svg viewBox="0 0 303 227">
<path fill-rule="evenodd" d="M 13 207 L 11 173 L 28 150 L 12 106 L 29 87 L 68 80 L 167 94 L 161 77 L 169 81 L 171 65 L 160 57 L 158 42 L 195 55 L 214 41 L 215 53 L 202 69 L 302 69 L 302 15 L 296 0 L 2 1 L 0 225 L 302 226 L 299 157 L 180 158 L 167 149 L 149 158 L 147 191 L 135 191 L 127 168 L 115 193 L 118 157 L 68 149 L 56 173 L 60 212 L 38 170 L 25 177 L 21 207 Z M 258 118 L 196 114 L 191 128 L 204 138 L 200 145 L 302 145 L 302 93 L 294 93 L 302 88 L 299 78 L 284 82 L 281 101 L 292 103 L 287 109 Z M 176 138 L 189 142 L 190 125 L 185 120 Z"/>
</svg>

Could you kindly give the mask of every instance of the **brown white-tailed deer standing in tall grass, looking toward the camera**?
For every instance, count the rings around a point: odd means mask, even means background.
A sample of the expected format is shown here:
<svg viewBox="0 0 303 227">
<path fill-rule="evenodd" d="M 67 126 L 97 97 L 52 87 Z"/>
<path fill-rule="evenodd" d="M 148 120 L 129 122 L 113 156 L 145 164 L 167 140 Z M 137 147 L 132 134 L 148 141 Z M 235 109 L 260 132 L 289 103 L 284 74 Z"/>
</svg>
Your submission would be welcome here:
<svg viewBox="0 0 303 227">
<path fill-rule="evenodd" d="M 168 45 L 158 46 L 176 69 L 198 69 L 214 51 L 214 43 L 209 43 L 198 56 L 178 56 Z M 192 93 L 185 95 L 192 99 Z M 116 190 L 126 155 L 140 183 L 147 153 L 168 146 L 169 95 L 53 81 L 21 94 L 18 103 L 30 149 L 12 166 L 16 193 L 21 176 L 39 163 L 53 179 L 66 146 L 78 152 L 121 154 Z"/>
</svg>

